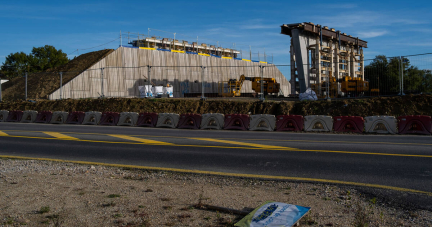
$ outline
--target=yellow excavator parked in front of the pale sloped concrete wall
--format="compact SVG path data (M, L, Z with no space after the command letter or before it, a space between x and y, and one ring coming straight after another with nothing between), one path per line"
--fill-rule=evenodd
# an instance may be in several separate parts
M275 78L262 78L261 80L261 77L246 77L245 75L241 75L239 80L230 79L229 81L220 82L218 86L219 96L241 96L241 88L245 80L252 81L252 90L256 93L261 93L261 83L263 83L264 96L272 93L277 94L280 91L280 83L277 83Z

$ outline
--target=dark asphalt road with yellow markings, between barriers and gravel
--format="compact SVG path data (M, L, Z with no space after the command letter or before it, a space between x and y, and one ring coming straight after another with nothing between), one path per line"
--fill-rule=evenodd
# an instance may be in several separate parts
M0 123L0 155L374 184L432 197L432 137Z

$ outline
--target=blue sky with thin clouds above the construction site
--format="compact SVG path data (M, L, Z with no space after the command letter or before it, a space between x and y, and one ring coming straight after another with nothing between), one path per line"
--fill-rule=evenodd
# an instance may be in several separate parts
M432 1L2 1L0 62L13 52L53 45L77 53L117 48L127 32L266 51L289 64L282 24L313 22L368 41L365 57L432 52ZM161 32L157 30L168 31ZM127 41L123 39L123 44ZM76 51L78 49L78 51ZM84 50L86 49L86 50ZM75 51L75 52L74 52ZM267 59L269 60L269 59Z

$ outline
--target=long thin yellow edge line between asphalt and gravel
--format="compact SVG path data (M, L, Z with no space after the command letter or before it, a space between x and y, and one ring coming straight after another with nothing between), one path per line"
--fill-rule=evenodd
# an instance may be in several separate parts
M62 159L34 158L34 157L9 156L9 155L0 155L0 158L33 159L33 160L40 160L40 161L67 162L67 163L76 163L76 164L83 164L83 165L101 165L101 166L110 166L110 167L119 167L119 168L145 169L145 170L155 170L155 171L170 171L170 172L180 172L180 173L194 173L194 174L206 174L206 175L217 175L217 176L227 176L227 177L260 178L260 179L266 179L266 180L309 181L309 182L319 182L319 183L331 183L331 184L342 184L342 185L362 186L362 187L371 187L371 188L381 188L381 189L388 189L388 190L394 190L394 191L400 191L400 192L419 193L419 194L424 194L427 196L432 196L432 192L409 189L409 188L400 188L400 187L393 187L393 186L379 185L379 184L368 184L368 183L340 181L340 180L328 180L328 179L319 179L319 178L286 177L286 176L243 174L243 173L225 173L225 172L216 172L216 171L189 170L189 169L138 166L138 165L122 165L122 164L111 164L111 163L102 163L102 162L68 161L68 160L62 160Z

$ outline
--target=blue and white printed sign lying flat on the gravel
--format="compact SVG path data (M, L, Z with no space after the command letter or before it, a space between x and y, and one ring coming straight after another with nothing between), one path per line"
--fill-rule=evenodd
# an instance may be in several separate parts
M293 226L309 210L310 207L267 201L246 215L246 217L237 222L234 226Z

